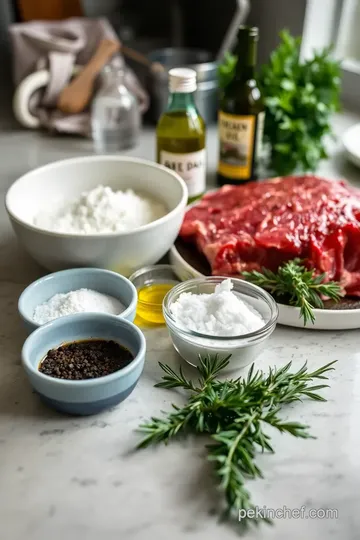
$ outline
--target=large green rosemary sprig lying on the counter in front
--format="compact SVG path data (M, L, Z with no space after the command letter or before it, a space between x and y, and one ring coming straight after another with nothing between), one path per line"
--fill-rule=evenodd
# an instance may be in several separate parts
M272 426L281 433L310 438L308 426L284 421L279 413L283 405L304 397L325 401L318 391L328 385L313 381L327 380L335 362L310 373L306 364L291 373L289 362L282 368L269 369L267 374L255 371L252 365L247 377L220 381L216 377L228 365L229 358L200 358L195 384L181 368L176 373L160 363L165 375L156 386L183 388L190 391L190 397L183 407L173 405L173 410L162 418L153 417L142 424L139 431L145 436L138 447L167 444L180 434L208 434L208 459L214 464L225 497L226 516L237 518L240 510L254 509L245 483L249 478L263 476L256 464L257 452L274 452L264 429Z

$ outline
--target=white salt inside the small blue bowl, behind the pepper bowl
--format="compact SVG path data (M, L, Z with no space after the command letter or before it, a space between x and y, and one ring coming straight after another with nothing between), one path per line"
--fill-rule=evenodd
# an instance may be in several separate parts
M33 319L38 324L45 324L73 313L98 312L119 315L124 309L121 302L112 296L90 289L79 289L55 294L35 308Z

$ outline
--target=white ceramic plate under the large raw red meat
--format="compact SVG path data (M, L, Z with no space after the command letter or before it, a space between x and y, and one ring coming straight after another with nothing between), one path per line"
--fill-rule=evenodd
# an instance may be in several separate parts
M184 272L193 277L204 277L204 274L196 270L188 263L174 245L170 250L170 262L174 265L176 273L181 277ZM285 326L304 328L303 320L300 319L300 309L278 304L278 323ZM360 309L314 309L315 323L308 324L305 328L310 330L354 330L360 328Z

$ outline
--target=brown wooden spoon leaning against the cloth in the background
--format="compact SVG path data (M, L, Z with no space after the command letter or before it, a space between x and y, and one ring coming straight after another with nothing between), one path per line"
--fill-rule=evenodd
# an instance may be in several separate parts
M57 108L66 114L82 112L91 100L97 75L119 49L118 41L102 40L84 69L61 91Z

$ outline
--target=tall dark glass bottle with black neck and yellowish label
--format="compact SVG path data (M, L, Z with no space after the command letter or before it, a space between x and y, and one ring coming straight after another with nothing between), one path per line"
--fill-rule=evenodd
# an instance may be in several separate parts
M238 59L235 74L220 98L219 185L241 184L257 178L265 120L255 80L258 36L255 27L239 28L234 51Z

